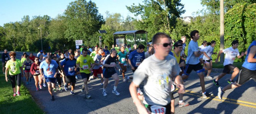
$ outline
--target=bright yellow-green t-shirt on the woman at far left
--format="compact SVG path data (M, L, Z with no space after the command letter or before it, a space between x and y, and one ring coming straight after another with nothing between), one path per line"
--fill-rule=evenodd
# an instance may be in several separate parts
M22 63L19 59L16 59L15 61L8 60L5 65L6 68L9 68L9 74L10 75L16 75L21 73L19 67L22 67Z

